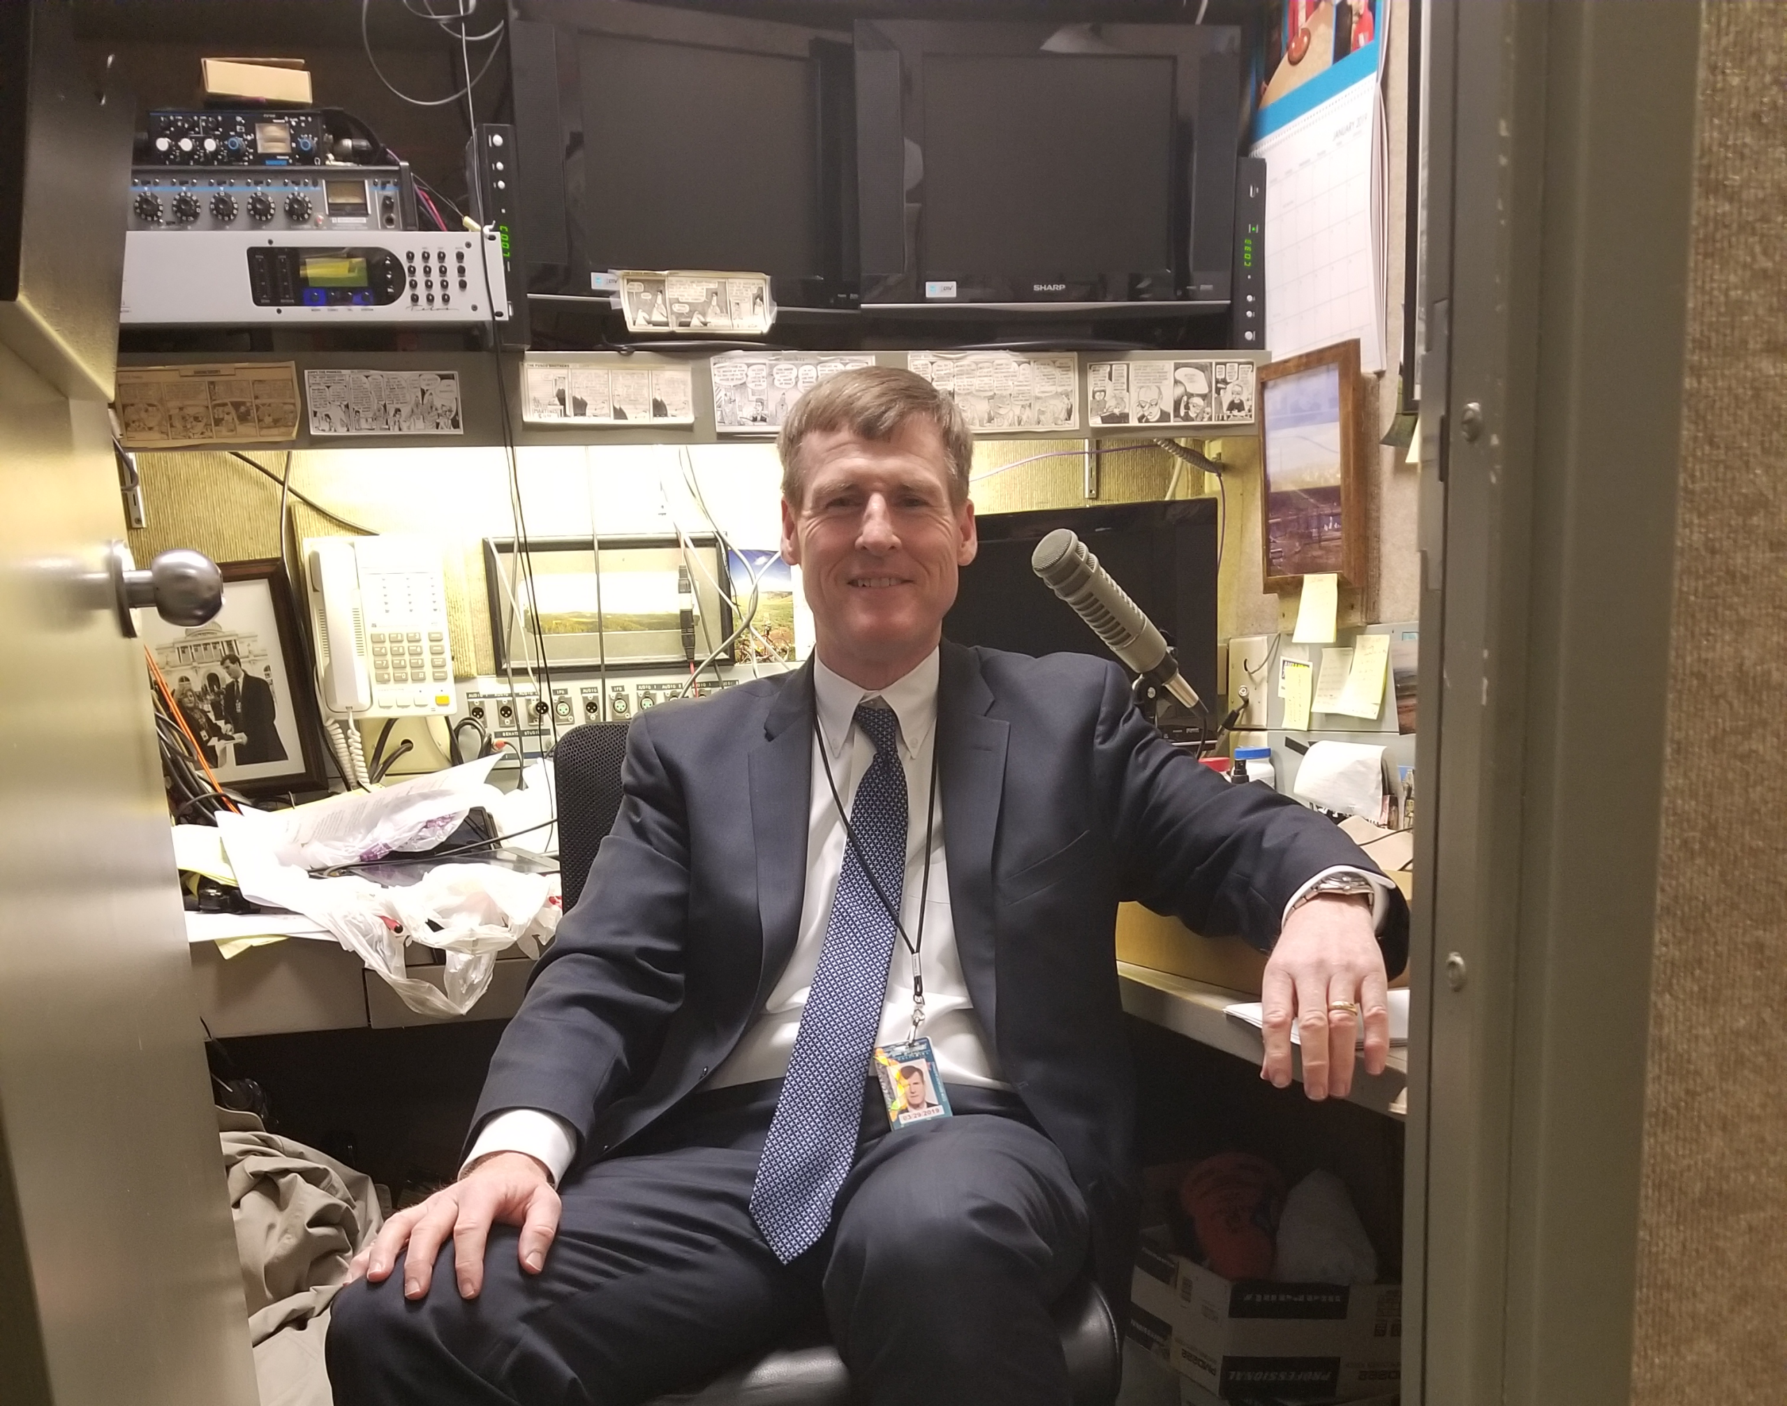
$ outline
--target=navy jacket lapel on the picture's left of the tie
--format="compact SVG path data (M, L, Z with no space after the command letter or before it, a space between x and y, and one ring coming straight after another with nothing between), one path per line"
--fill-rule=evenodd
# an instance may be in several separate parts
M770 986L793 952L806 897L806 831L813 784L813 665L788 675L751 749L751 829L758 849L758 920L763 927L758 993Z

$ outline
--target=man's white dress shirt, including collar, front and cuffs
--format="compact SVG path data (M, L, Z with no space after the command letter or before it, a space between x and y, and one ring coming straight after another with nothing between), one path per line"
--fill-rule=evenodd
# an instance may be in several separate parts
M945 1083L1010 1088L999 1077L999 1061L992 1042L986 1040L986 1033L974 1015L974 1000L969 995L969 984L961 975L961 959L956 952L956 925L949 906L949 861L944 847L942 784L938 784L935 802L931 850L929 856L924 852L924 802L931 788L931 756L936 743L936 650L931 650L924 663L913 668L911 674L879 691L852 684L849 679L826 668L815 656L813 691L818 700L818 725L826 740L826 752L822 757L820 741L813 738L813 777L808 791L806 829L806 893L801 900L801 925L788 965L763 1002L763 1009L745 1027L736 1049L701 1084L702 1090L747 1084L759 1079L781 1079L788 1072L793 1040L801 1029L801 1013L806 1009L813 972L818 968L818 954L826 945L826 927L831 922L831 902L838 888L838 874L843 868L847 836L843 820L838 815L838 802L849 813L856 797L856 783L861 781L863 772L868 770L868 763L874 759L874 743L854 724L856 706L874 697L879 697L899 716L899 754L906 768L906 884L901 893L901 927L906 929L908 938L919 943L919 959L924 963L926 1020L920 1033L931 1038L936 1068ZM836 802L831 797L831 786L826 783L826 763L831 765L831 777L838 786ZM929 858L931 884L927 897L922 900L926 913L924 936L920 940L919 909L920 891L924 890L926 858ZM1317 874L1292 895L1285 906L1285 915L1290 915L1297 899L1312 884L1331 874L1363 872L1330 868ZM1388 911L1387 890L1390 883L1376 874L1365 874L1363 877L1372 879L1376 886L1372 909L1381 927ZM881 1006L877 1043L899 1043L910 1033L911 954L895 936L886 997ZM552 1181L558 1183L577 1152L577 1133L554 1113L513 1108L484 1124L484 1129L477 1134L477 1142L472 1145L472 1154L465 1159L465 1167L491 1152L527 1152L543 1163L552 1174Z

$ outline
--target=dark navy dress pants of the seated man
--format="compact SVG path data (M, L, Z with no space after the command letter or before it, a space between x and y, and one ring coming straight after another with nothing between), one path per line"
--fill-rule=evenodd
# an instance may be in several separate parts
M829 1329L872 1406L1069 1406L1049 1304L1085 1260L1086 1209L1017 1095L951 1086L956 1117L888 1131L867 1086L831 1229L781 1265L749 1204L779 1088L695 1095L570 1174L538 1276L499 1226L470 1302L450 1240L422 1302L402 1261L350 1285L327 1338L336 1406L631 1406L802 1326Z

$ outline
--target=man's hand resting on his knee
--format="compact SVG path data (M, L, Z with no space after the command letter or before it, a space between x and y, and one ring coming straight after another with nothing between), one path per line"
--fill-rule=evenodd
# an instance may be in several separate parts
M520 1226L522 1270L540 1274L558 1222L559 1197L547 1168L525 1152L493 1152L420 1206L395 1211L372 1245L354 1256L347 1279L354 1283L365 1274L382 1283L407 1245L404 1297L422 1299L434 1279L434 1258L450 1234L459 1297L475 1299L484 1286L484 1243L491 1226Z

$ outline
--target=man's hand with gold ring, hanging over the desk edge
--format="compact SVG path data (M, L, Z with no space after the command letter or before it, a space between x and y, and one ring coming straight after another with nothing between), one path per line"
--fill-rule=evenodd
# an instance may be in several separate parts
M1390 1052L1388 979L1371 920L1371 902L1317 893L1297 904L1265 963L1260 993L1265 1063L1260 1077L1287 1088L1290 1029L1303 1040L1303 1092L1344 1099L1353 1088L1353 1050L1365 1027L1365 1072L1383 1074ZM1355 1006L1356 1011L1347 1009Z

